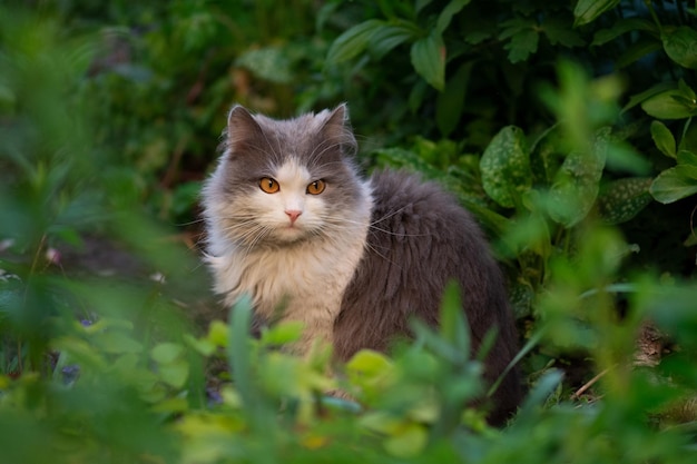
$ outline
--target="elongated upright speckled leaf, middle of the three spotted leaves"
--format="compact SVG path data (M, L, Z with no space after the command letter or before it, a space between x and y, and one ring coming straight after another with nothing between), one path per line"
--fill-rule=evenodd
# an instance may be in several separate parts
M608 155L610 129L602 128L588 150L570 152L557 172L550 190L550 216L565 227L588 215L598 196Z

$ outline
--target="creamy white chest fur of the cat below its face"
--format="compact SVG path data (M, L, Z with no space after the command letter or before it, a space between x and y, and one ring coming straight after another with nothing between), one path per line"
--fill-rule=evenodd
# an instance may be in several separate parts
M332 327L344 290L363 255L367 219L340 237L246 253L229 249L208 257L215 290L233 305L244 294L269 320L298 320L304 336L296 347L306 352L315 338L332 340Z

